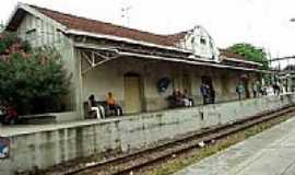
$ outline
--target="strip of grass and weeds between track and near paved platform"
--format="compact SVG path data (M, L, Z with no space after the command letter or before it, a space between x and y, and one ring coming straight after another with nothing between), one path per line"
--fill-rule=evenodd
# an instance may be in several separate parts
M187 167L191 164L196 164L204 158L208 158L212 154L215 154L224 149L227 149L231 145L234 145L238 142L241 142L257 133L262 132L266 129L269 129L282 121L288 119L291 115L282 116L279 118L271 119L267 122L259 124L251 128L248 128L244 131L239 131L232 136L228 136L226 139L217 140L214 144L209 144L202 149L192 150L184 155L175 155L176 159L169 160L165 163L161 163L160 165L150 167L144 172L140 172L141 175L170 175L176 173L177 171Z

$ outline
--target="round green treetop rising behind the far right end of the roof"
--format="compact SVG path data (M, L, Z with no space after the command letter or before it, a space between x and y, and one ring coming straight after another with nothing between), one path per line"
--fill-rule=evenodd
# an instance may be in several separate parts
M227 50L240 55L249 61L262 63L263 69L269 69L267 52L260 47L251 44L240 43L228 47Z

